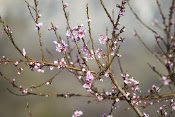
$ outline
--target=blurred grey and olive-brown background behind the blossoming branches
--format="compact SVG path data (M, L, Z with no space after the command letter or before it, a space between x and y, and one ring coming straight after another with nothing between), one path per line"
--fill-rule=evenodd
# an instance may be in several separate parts
M120 4L119 0L103 0L106 8L112 14L114 9L115 18L118 14L118 9L115 7L116 4ZM109 29L109 37L112 32L112 25L103 10L99 0L65 0L69 6L66 8L69 11L69 21L71 27L84 24L83 29L88 32L86 22L86 4L89 4L89 15L92 18L91 28L92 37L95 41L95 47L103 48L100 45L98 39L102 33L106 32L106 27ZM33 2L30 1L31 5ZM162 22L158 7L155 0L131 0L131 6L136 11L138 16L149 26L152 26L152 22L155 19L158 22ZM162 4L163 12L168 16L169 6L171 0L164 1L160 0ZM56 37L52 31L47 29L51 27L51 22L54 25L58 25L58 34L62 39L66 40L66 19L62 11L61 0L39 0L39 10L42 17L39 22L43 22L41 29L42 42L46 58L53 62L54 59L50 56L46 49L52 52L57 58L61 58L61 55L55 51L55 45L53 41ZM124 70L128 71L136 80L142 82L141 90L142 94L146 94L147 90L151 88L153 84L160 86L161 81L159 77L149 68L147 63L156 65L156 68L166 74L163 66L149 53L144 46L139 42L136 37L133 37L134 29L137 30L138 34L142 37L144 42L152 49L156 50L156 42L154 34L147 30L143 25L138 22L135 16L131 13L130 9L126 5L126 12L124 17L121 18L121 26L126 27L126 32L123 37L126 38L125 43L121 45L120 54L122 55L121 62ZM35 23L32 20L30 13L27 9L27 5L23 0L0 0L0 16L6 22L8 22L10 29L13 32L14 41L19 48L25 48L27 55L33 59L41 60L41 53L39 48L39 41L37 31L35 30ZM162 36L163 32L157 30ZM0 25L2 31L2 25ZM86 36L86 39L89 39ZM0 57L6 56L10 59L21 59L21 55L15 50L9 41L8 37L4 34L0 34ZM90 62L91 67L96 70L94 61ZM45 73L31 72L28 67L24 64L20 64L20 67L24 68L21 75L17 74L17 68L14 67L13 63L8 65L0 65L0 71L10 79L15 78L18 85L22 85L24 88L28 88L31 85L41 84L47 79L51 78L57 70L49 71L49 68L45 68ZM120 76L120 70L117 61L114 61L112 66L116 78L122 84ZM100 89L105 88L106 91L111 91L111 82L104 78L104 82L100 83L97 81L96 86ZM26 101L29 102L33 117L70 117L73 114L73 110L81 110L84 113L84 117L101 117L103 113L109 113L112 101L103 101L97 103L93 98L83 97L72 97L72 98L57 98L57 97L38 97L38 96L15 96L7 90L10 89L15 93L20 93L18 90L13 88L7 81L0 77L0 116L1 117L29 117L28 110L26 109ZM162 93L167 92L168 89L164 89ZM80 93L88 94L86 90L82 88L81 84L73 77L72 74L63 70L58 75L52 85L43 86L38 88L36 92L41 93ZM88 104L88 101L93 103ZM131 109L126 112L126 108L129 105L126 102L119 102L119 109L114 110L112 115L114 117L137 116L136 113ZM153 105L145 110L146 113L151 116L156 116L156 110L159 109L160 105ZM150 111L151 110L151 111Z

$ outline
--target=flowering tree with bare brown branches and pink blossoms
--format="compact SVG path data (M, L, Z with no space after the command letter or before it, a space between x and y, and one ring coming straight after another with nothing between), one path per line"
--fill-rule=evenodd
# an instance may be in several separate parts
M137 13L134 12L131 5L129 4L129 1L123 0L120 4L116 4L117 9L119 9L119 12L117 14L117 17L114 17L114 12L111 15L107 8L105 7L105 4L102 0L99 0L101 3L104 12L106 13L106 16L109 18L109 21L112 24L112 33L108 34L108 29L104 31L104 33L99 34L99 44L105 47L105 49L97 48L95 46L95 42L93 39L93 35L91 32L91 17L89 14L89 7L88 4L86 5L86 16L87 16L87 25L88 29L84 29L84 25L77 25L76 27L72 27L70 25L69 21L69 15L67 11L68 3L64 3L62 0L62 9L64 12L65 20L67 22L66 27L66 34L65 37L61 37L59 34L59 26L54 25L54 23L51 23L51 26L48 27L48 31L53 31L56 40L53 42L55 46L55 50L59 54L59 58L55 58L52 54L52 52L47 50L47 53L49 55L54 57L54 61L49 61L48 57L45 56L45 50L44 46L42 44L42 35L41 35L41 29L43 26L43 23L40 22L40 18L42 15L40 14L38 10L39 2L34 0L34 6L32 6L28 1L24 0L27 4L29 13L36 24L35 30L38 34L39 39L39 45L40 45L40 54L41 54L41 60L36 60L32 57L30 57L27 53L27 50L25 48L19 48L18 44L15 43L15 39L13 38L13 33L10 28L10 26L3 20L3 18L0 17L0 22L3 27L2 34L6 34L9 40L11 41L14 48L20 53L20 55L23 57L21 59L15 59L14 58L7 58L6 56L3 56L3 58L0 60L0 63L5 65L13 63L14 66L17 68L17 72L20 75L22 71L24 70L23 67L20 67L21 64L27 66L28 69L31 70L31 72L37 71L40 73L45 73L45 70L49 68L50 71L56 70L58 71L54 76L52 76L47 81L40 83L39 85L32 85L28 88L24 88L23 85L18 85L15 78L10 78L4 73L0 72L0 75L3 79L8 81L9 84L11 84L14 88L19 90L19 93L14 93L10 89L9 92L17 95L17 96L29 96L29 95L35 95L35 96L42 96L42 97L51 97L55 96L58 98L68 98L68 97L88 97L95 99L96 102L102 103L105 100L112 100L113 103L111 105L111 109L109 113L104 113L103 117L111 117L112 112L114 109L120 109L118 106L118 102L127 102L130 106L129 109L133 109L134 112L139 117L148 117L149 114L145 113L145 110L148 106L157 104L159 102L168 102L163 104L163 106L160 107L159 110L157 110L157 113L159 116L171 116L173 115L173 111L175 110L175 104L173 102L173 98L175 96L175 93L173 91L173 84L174 84L174 38L175 38L175 32L173 32L173 28L175 29L175 21L174 18L174 8L175 8L175 0L172 0L172 4L170 6L170 12L168 20L166 20L165 15L162 12L161 5L158 0L156 0L160 15L162 16L163 20L163 31L165 32L166 37L162 37L159 35L154 29L147 26L137 15ZM160 64L163 64L165 68L167 69L167 74L162 74L159 71L157 71L156 66L150 66L150 68L159 75L159 78L161 78L162 85L156 86L152 85L151 89L148 89L148 93L142 94L142 90L140 89L139 85L144 84L137 80L135 80L131 75L128 74L126 70L123 69L123 66L121 64L121 57L122 55L119 53L120 47L124 44L125 38L122 36L122 34L125 32L125 27L123 24L120 23L120 20L123 18L125 13L125 6L128 4L129 8L133 12L133 14L136 16L136 18L146 27L148 30L151 30L155 34L155 40L157 42L157 45L160 49L159 51L152 51L141 39L139 34L137 33L137 29L134 32L134 36L136 36L141 43L150 51L158 61L160 61ZM159 25L157 22L153 22L153 26L159 26L161 28L161 25ZM65 39L66 38L66 39ZM161 44L162 42L162 44ZM114 76L115 70L113 67L115 66L114 61L117 60L118 65L120 67L120 78L116 78ZM165 61L165 62L164 62ZM93 66L91 63L94 63ZM95 69L94 66L97 66L97 69ZM27 69L25 68L25 69ZM45 85L52 85L54 82L54 79L56 76L61 75L61 72L63 70L67 70L70 72L81 85L82 88L84 88L88 94L79 94L75 92L69 92L69 93L44 93L44 92L37 92L36 90L38 88L41 88ZM109 82L106 82L106 84L111 83L111 91L106 91L104 88L101 90L97 84L100 84L101 82L105 82L105 78L109 79ZM122 81L122 84L119 83L119 81ZM169 89L171 90L171 93L161 94L160 91L162 88L166 87L168 85ZM92 103L92 102L89 102ZM29 104L27 102L27 109L29 110L29 114L32 117L32 107L30 109ZM83 112L78 109L73 109L73 117L78 117L83 115ZM115 115L114 115L115 116Z

